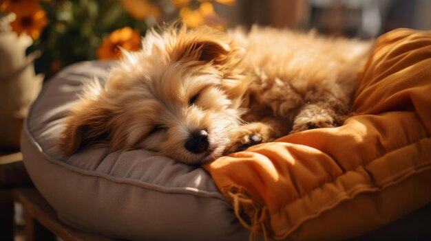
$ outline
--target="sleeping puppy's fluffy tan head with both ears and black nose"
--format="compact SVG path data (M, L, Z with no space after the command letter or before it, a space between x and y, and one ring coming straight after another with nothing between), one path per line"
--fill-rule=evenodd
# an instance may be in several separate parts
M145 148L188 164L220 157L240 125L240 51L209 27L151 30L124 52L105 86L87 86L59 139L71 154L100 139L111 150Z

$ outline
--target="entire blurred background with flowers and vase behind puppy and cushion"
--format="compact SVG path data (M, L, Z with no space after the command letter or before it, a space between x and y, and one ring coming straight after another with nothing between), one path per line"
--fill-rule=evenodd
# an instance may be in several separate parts
M149 27L182 20L226 30L253 24L375 38L431 29L428 0L0 0L0 148L16 147L43 81L67 65L120 58Z

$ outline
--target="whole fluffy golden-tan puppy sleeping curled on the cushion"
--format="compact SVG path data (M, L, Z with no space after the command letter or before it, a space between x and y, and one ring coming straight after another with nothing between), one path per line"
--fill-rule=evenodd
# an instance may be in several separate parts
M269 27L170 26L90 82L59 148L105 140L190 165L312 128L340 126L372 43Z

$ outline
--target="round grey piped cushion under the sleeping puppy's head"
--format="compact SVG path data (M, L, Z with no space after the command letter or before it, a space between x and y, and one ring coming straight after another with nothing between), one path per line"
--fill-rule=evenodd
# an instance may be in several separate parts
M44 84L21 137L25 167L59 218L86 231L129 240L247 240L249 231L211 176L147 150L56 148L62 119L83 82L113 62L81 62Z

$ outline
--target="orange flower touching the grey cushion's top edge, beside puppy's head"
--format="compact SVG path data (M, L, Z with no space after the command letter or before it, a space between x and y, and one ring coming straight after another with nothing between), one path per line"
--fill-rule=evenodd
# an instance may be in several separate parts
M140 49L140 34L131 27L123 27L115 30L107 38L104 38L101 46L97 49L99 59L118 59L121 57L119 47L136 51Z

